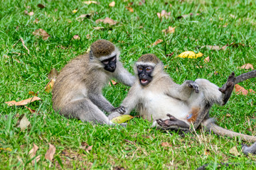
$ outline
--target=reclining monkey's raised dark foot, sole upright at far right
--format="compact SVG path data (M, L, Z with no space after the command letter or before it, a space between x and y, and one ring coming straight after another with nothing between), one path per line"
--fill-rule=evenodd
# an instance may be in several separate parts
M228 99L230 98L232 91L235 86L235 73L232 72L230 76L228 77L227 82L219 88L219 91L223 93L223 105L227 103Z

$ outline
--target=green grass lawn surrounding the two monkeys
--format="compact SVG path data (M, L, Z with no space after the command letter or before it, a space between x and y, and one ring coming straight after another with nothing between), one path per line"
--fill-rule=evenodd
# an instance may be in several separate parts
M210 169L215 169L220 162L241 163L223 169L256 169L256 166L246 164L254 162L255 156L242 154L235 157L230 154L229 150L234 146L241 150L239 139L210 135L201 130L196 132L197 135L181 137L176 132L170 134L151 129L151 123L141 118L130 120L127 128L91 125L63 118L53 111L51 94L44 91L50 69L60 70L100 38L119 47L124 67L130 72L142 54L154 53L167 66L166 72L179 84L186 79L205 78L221 86L230 72L237 75L247 72L238 69L242 64L251 63L256 67L255 1L151 0L142 6L139 6L139 1L134 1L131 6L134 13L125 8L132 1L116 1L114 7L109 6L110 2L90 5L64 0L0 2L0 147L11 148L11 151L0 150L0 169L61 169L61 164L63 169L196 169L203 164L212 164ZM46 8L38 8L38 4L44 4ZM78 12L73 13L74 9ZM171 16L160 20L156 13L163 9L171 11ZM33 11L34 15L25 15L25 10ZM92 13L91 18L82 22L76 20L85 13ZM194 15L176 19L188 13ZM118 23L114 26L95 23L105 17ZM38 23L33 23L36 18ZM93 27L96 26L104 29L95 30ZM176 27L175 33L165 35L161 32L168 26ZM50 38L36 38L33 31L38 28L46 30ZM72 40L75 34L80 36L80 40ZM90 35L89 39L87 35ZM19 38L25 41L29 55L21 42L13 47ZM148 47L158 39L164 41ZM201 48L203 45L223 46L231 42L245 46L228 47L225 51ZM175 57L186 50L200 51L203 57L196 60ZM166 57L171 52L174 55ZM203 61L207 56L210 57L208 63ZM255 79L240 85L256 91ZM122 84L107 86L104 95L114 106L119 106L128 89ZM4 103L29 98L28 91L39 91L42 101L28 104L38 114L31 114L23 106L9 107ZM224 128L256 135L255 102L255 94L242 96L233 93L226 106L213 106L210 115ZM226 116L227 113L231 116ZM31 122L23 132L15 128L21 114L26 114ZM48 142L56 147L53 162L44 158ZM93 145L89 153L80 149L82 142ZM162 142L169 142L172 147L162 147ZM41 160L34 166L28 156L33 143L39 147L36 155L41 155Z

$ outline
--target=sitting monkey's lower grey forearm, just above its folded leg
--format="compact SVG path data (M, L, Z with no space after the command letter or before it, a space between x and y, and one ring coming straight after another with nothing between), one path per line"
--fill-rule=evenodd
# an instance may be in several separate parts
M92 101L92 103L94 103L96 106L106 111L107 113L114 111L114 106L112 106L112 104L107 101L107 99L102 96L102 94L89 93L88 97L90 98L90 101Z

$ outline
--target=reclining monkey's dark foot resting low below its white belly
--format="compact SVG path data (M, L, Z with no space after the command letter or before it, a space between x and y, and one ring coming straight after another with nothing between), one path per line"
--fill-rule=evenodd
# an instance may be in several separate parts
M156 123L158 123L163 128L169 128L171 126L178 126L179 128L189 128L189 125L184 121L178 120L170 114L167 114L167 116L169 117L169 119L156 119Z

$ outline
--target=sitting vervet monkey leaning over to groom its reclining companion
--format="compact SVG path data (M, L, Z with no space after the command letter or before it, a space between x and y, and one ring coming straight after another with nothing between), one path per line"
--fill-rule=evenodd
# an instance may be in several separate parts
M53 108L68 118L112 125L102 112L117 109L102 96L102 88L115 78L132 86L135 77L119 62L120 52L112 42L97 40L89 54L71 60L61 70L53 86ZM118 109L122 111L122 108Z

